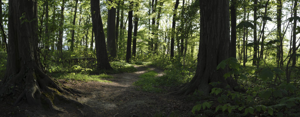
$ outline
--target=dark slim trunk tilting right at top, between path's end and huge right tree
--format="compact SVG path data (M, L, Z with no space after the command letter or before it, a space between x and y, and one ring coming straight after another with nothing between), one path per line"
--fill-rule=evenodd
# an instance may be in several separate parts
M176 11L178 8L179 0L176 0L174 11L173 11L173 22L172 22L172 34L171 34L171 50L170 50L170 59L174 57L174 37L175 37L175 26L176 26Z

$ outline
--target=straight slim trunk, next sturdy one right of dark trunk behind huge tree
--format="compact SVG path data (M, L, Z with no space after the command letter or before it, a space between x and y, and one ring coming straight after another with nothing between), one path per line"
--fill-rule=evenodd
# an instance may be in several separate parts
M257 27L257 0L254 0L254 11L253 11L253 25L254 25L254 29L253 29L253 43L254 43L254 47L253 47L253 65L256 65L256 61L257 61L257 51L258 51L258 43L257 43L257 32L256 32L256 27Z

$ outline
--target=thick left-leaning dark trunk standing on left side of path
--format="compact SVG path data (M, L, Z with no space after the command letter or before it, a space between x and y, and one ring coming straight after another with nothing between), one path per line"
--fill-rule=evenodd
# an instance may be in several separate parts
M113 69L110 66L107 49L105 44L105 34L103 29L103 23L100 12L100 1L91 0L91 17L92 25L95 34L95 50L97 56L97 68L98 69Z

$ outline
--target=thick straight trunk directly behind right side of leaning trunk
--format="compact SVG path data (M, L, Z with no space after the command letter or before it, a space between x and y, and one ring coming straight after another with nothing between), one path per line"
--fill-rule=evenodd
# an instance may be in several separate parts
M113 0L110 0L110 2L113 2ZM107 50L110 54L110 59L117 57L115 7L111 7L107 13Z

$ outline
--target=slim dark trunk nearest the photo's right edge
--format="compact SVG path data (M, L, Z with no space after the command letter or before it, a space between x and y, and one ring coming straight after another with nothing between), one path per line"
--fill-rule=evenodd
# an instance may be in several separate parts
M295 0L294 3L294 17L297 16L297 4L298 4L298 0ZM294 53L294 56L292 57L292 67L295 67L296 65L296 26L297 26L297 20L294 19L294 23L293 23L293 45L292 45L292 53Z

